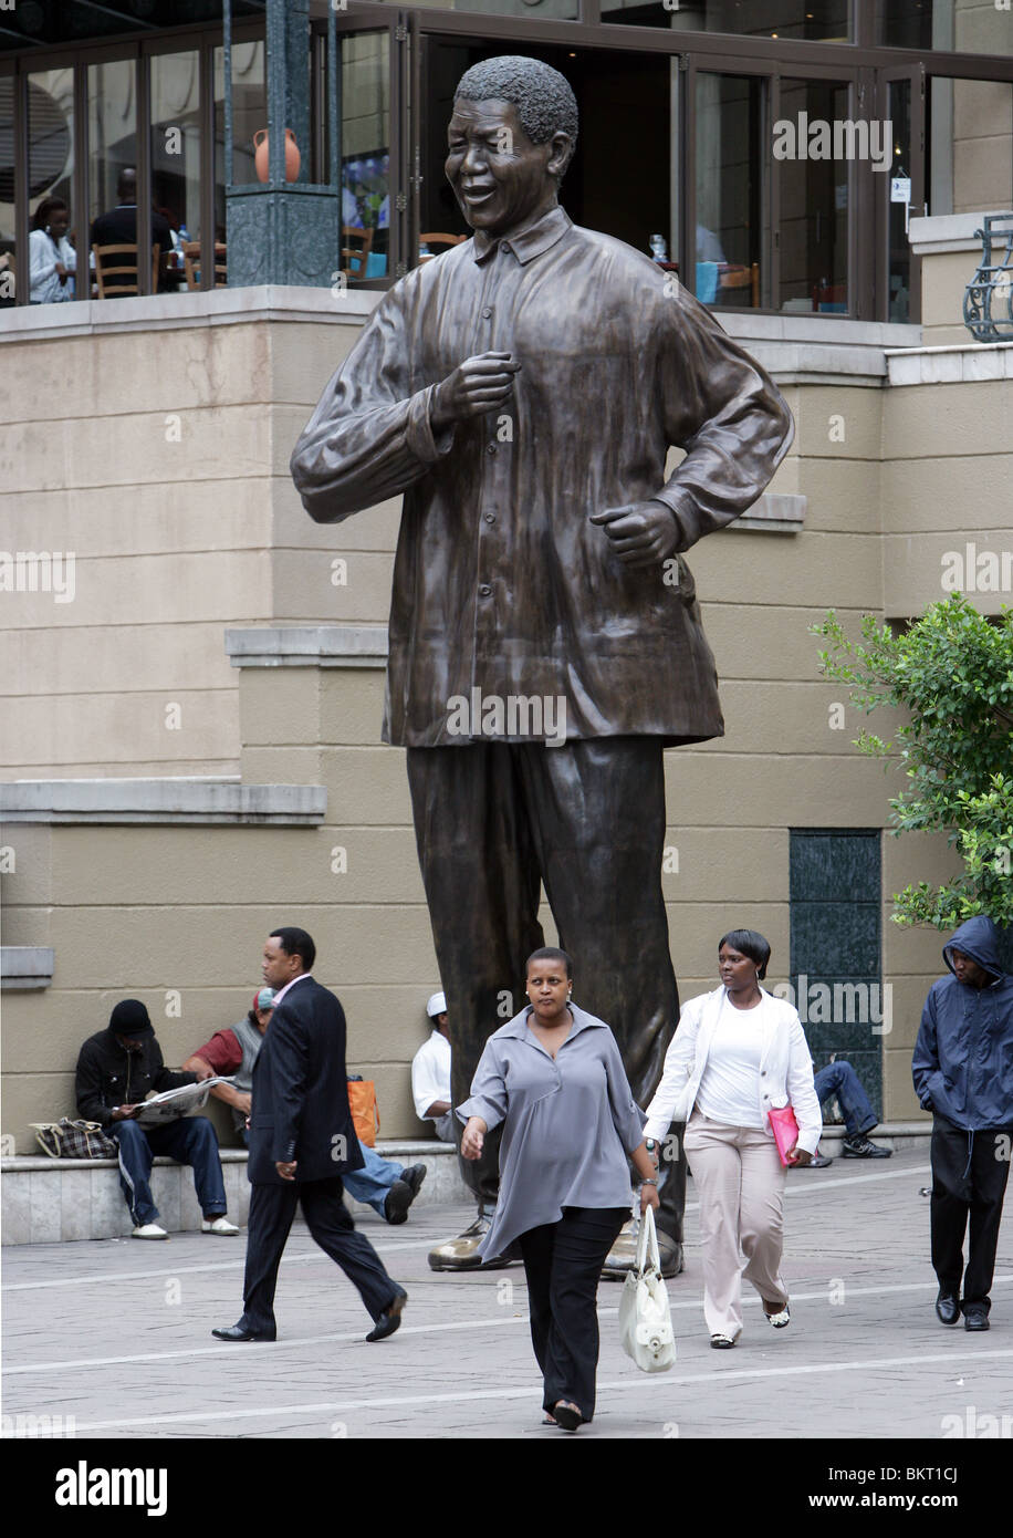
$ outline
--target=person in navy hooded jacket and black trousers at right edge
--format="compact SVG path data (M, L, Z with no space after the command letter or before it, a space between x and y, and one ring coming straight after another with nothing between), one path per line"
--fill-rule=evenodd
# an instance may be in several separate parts
M1013 1143L1013 977L1002 970L998 940L995 923L981 917L968 918L944 946L952 975L928 990L912 1060L918 1098L933 1114L936 1313L956 1324L962 1310L968 1330L988 1329Z

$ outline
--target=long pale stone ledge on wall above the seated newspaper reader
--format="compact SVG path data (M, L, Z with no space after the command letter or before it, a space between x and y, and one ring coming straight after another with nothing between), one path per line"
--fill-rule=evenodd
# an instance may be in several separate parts
M315 827L327 811L320 784L238 780L11 780L0 784L5 823L211 823Z

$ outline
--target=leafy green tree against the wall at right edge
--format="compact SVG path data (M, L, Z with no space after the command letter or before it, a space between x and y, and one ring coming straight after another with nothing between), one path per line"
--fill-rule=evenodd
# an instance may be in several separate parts
M962 860L942 886L895 892L893 921L948 930L990 914L1013 924L1013 609L990 623L952 594L899 634L867 614L852 641L833 611L812 634L830 643L821 672L853 704L907 712L895 743L864 729L855 740L873 758L896 754L907 777L890 800L893 832L944 831Z

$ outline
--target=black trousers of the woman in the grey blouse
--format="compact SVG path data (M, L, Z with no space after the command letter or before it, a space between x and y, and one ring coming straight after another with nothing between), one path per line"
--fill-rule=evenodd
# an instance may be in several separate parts
M598 1278L629 1215L629 1207L564 1207L560 1223L520 1237L546 1410L570 1400L586 1421L595 1413Z

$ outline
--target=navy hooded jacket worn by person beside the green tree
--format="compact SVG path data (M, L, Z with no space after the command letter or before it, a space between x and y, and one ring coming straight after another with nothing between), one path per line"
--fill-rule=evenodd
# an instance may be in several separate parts
M990 918L968 918L944 946L962 950L991 974L984 987L933 983L922 1009L912 1075L925 1110L965 1132L1013 1127L1013 977L1002 972L998 930Z

